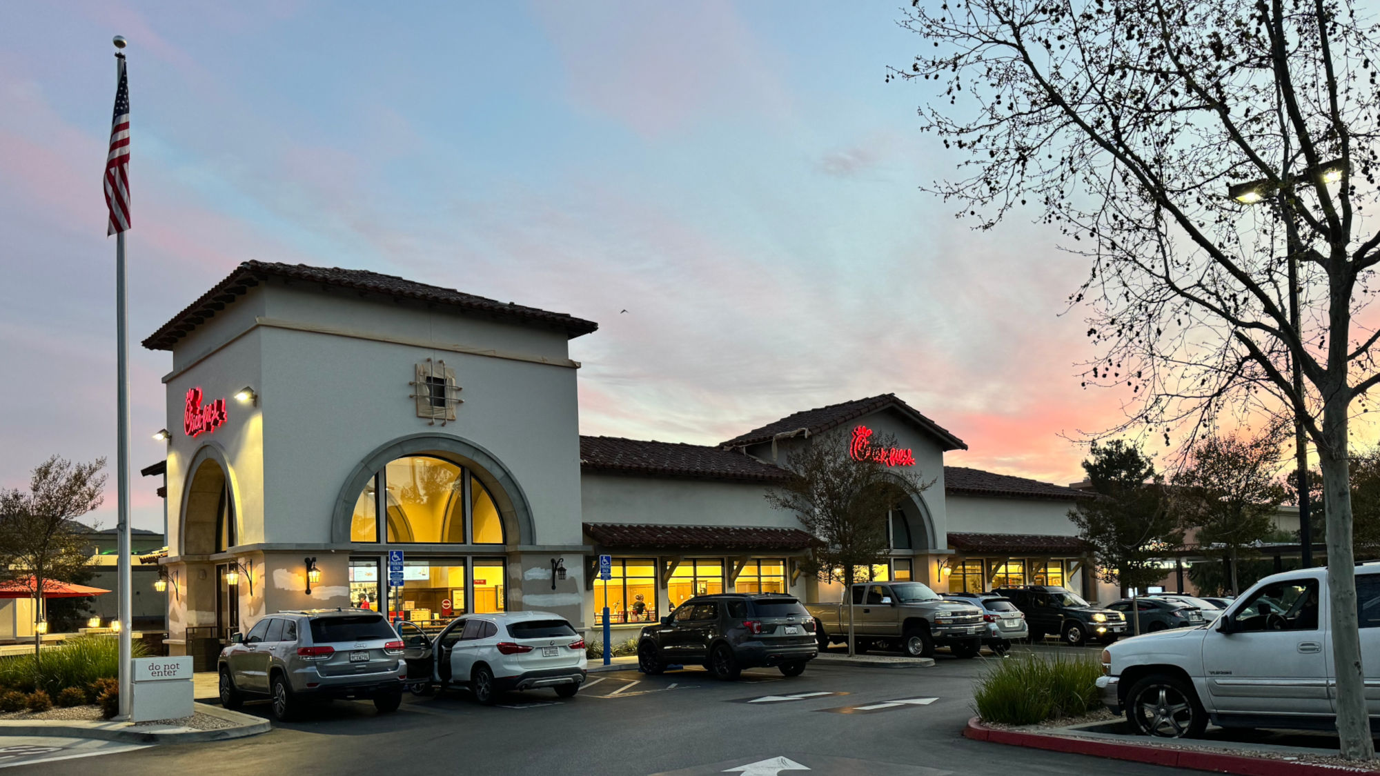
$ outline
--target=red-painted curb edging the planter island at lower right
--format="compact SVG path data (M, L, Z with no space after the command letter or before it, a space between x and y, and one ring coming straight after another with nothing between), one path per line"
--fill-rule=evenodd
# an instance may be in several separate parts
M1147 762L1167 768L1190 770L1210 770L1213 773L1236 773L1239 776L1321 776L1323 773L1380 773L1372 768L1350 768L1346 765L1315 765L1292 762L1265 757L1246 757L1203 750L1179 750L1155 744L1130 744L1119 741L1094 741L1054 733L1031 733L1027 730L998 730L983 725L977 717L967 721L963 737L974 741L989 741L1047 751L1086 754L1108 759Z

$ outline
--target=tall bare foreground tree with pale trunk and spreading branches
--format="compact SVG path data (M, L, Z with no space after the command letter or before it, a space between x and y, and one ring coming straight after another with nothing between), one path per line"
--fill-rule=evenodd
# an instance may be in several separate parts
M1380 262L1376 28L1348 0L915 1L923 54L890 77L936 88L922 128L962 173L933 191L981 228L1029 206L1089 257L1085 385L1166 443L1234 411L1317 446L1341 751L1373 757L1347 427L1380 381L1355 320Z

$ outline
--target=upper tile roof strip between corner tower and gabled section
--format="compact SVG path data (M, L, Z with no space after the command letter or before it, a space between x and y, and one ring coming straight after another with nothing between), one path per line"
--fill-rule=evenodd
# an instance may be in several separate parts
M782 481L789 472L742 453L683 445L643 442L618 436L581 436L580 468L705 479Z

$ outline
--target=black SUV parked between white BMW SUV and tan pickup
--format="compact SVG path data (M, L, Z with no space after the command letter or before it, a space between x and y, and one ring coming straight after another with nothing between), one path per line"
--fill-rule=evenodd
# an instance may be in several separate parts
M638 639L644 674L698 663L724 681L756 666L798 677L818 653L814 617L795 596L778 592L697 595L642 628Z

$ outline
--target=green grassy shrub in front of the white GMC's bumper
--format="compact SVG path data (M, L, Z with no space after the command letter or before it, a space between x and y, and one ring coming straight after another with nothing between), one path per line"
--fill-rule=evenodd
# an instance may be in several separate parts
M1098 708L1094 657L1010 657L992 664L973 686L973 707L984 722L1034 725L1081 717Z

